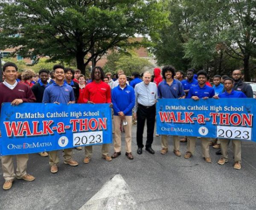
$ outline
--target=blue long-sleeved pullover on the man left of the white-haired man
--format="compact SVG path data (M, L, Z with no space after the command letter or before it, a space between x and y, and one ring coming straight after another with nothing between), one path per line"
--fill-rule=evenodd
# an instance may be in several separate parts
M132 109L135 105L135 92L133 87L126 85L124 89L116 86L111 91L111 101L113 104L114 115L118 112L124 112L125 115L131 116Z

